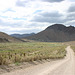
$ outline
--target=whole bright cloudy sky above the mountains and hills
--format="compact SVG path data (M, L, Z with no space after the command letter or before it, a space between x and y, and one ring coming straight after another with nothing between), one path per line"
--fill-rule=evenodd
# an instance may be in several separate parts
M0 31L38 33L52 24L75 26L75 0L0 0Z

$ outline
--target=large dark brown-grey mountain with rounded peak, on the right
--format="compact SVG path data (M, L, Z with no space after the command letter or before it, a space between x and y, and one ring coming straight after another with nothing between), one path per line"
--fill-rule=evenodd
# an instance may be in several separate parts
M33 36L26 37L26 39L44 42L75 41L75 27L66 27L63 24L54 24Z

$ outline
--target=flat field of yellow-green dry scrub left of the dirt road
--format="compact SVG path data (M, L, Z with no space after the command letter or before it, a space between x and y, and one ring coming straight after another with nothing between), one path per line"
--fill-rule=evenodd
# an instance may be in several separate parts
M65 47L46 42L0 43L0 65L63 58L66 55Z

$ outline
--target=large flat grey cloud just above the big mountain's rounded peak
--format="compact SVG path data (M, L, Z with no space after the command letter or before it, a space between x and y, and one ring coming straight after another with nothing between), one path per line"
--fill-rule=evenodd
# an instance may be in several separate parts
M42 12L35 15L31 21L34 22L49 22L49 23L62 23L64 19L63 15L59 12Z

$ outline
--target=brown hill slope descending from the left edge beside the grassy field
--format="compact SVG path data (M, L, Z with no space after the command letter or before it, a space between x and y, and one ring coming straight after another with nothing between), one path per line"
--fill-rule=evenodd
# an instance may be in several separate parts
M11 37L6 33L0 32L0 42L23 42L23 40Z

